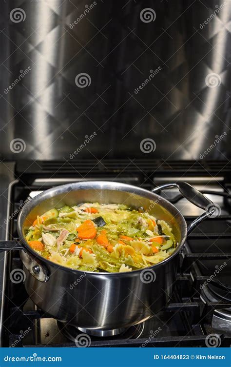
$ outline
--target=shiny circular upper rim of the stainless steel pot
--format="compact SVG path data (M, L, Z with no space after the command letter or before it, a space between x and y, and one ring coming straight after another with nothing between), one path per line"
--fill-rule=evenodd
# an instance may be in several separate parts
M173 218L178 215L182 221L182 226L183 226L183 230L180 231L181 233L181 240L179 242L179 244L177 245L175 251L173 252L172 255L170 255L168 258L162 260L161 262L154 264L154 265L150 265L147 267L144 267L142 269L137 269L137 270L132 270L130 272L115 272L115 273L110 273L110 272L95 272L95 271L83 271L83 270L78 270L78 269L73 269L71 267L67 267L67 266L63 266L63 265L58 265L57 263L54 263L48 259L45 259L43 256L39 255L38 252L36 252L35 250L33 250L26 242L26 240L23 237L22 234L22 227L23 227L23 223L25 218L28 216L28 214L30 213L30 211L39 203L43 202L46 199L50 199L53 196L57 196L61 193L65 193L65 192L69 192L69 191L74 191L74 190L87 190L87 189L106 189L106 190L115 190L115 191L125 191L125 192L130 192L130 193L135 193L137 195L143 196L144 198L147 198L150 200L153 199L158 199L159 203L157 205L160 205L162 207L164 207L165 209L167 209L173 216ZM53 193L56 192L55 195L53 195ZM143 195L142 195L143 194ZM164 205L162 205L164 204ZM173 214L173 212L175 212ZM24 217L24 218L23 218ZM177 221L178 225L179 222ZM183 215L181 214L181 212L176 208L175 205L173 205L172 203L170 203L168 200L162 198L161 196L153 193L152 191L149 191L147 189L135 186L135 185L131 185L131 184L127 184L127 183L119 183L119 182L115 182L115 181L81 181L81 182L77 182L77 183L66 183L63 185L58 185L55 187L52 187L50 189L44 190L42 193L40 193L39 195L35 196L33 199L31 199L27 204L25 204L23 206L23 208L21 209L20 213L19 213L19 217L17 220L17 230L19 233L19 242L22 243L24 249L33 257L34 260L38 261L38 263L45 263L48 265L52 265L54 267L60 268L64 271L68 271L74 274L92 274L92 275L101 275L101 276L133 276L133 274L137 274L137 273L141 273L142 271L146 270L146 269L157 269L157 267L164 265L166 263L168 263L169 261L171 261L173 259L173 257L175 257L176 255L179 254L179 252L182 249L182 246L184 245L186 238L187 238L187 223L183 217Z

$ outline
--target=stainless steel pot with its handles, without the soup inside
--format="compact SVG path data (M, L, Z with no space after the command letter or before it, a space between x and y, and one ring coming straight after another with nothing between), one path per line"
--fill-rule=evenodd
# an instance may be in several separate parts
M193 204L205 209L187 228L178 209L158 196L161 189L178 187ZM35 252L25 241L25 230L52 207L84 202L125 203L143 206L173 228L178 246L159 264L129 273L96 273L73 270L55 264ZM152 317L165 306L173 292L176 267L187 232L208 217L212 202L188 183L163 184L152 192L116 182L81 182L54 187L36 196L18 218L20 242L2 241L0 250L19 249L25 271L25 288L36 305L61 322L97 335L116 334L122 328Z

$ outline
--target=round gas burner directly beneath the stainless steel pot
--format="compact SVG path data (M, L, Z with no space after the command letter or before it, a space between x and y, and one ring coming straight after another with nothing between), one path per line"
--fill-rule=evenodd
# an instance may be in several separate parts
M138 325L130 326L129 328L119 328L114 330L93 330L76 327L68 323L57 321L59 331L72 342L75 342L76 337L80 333L85 333L91 336L92 340L106 340L107 338L116 337L116 339L138 339L144 329L144 322Z

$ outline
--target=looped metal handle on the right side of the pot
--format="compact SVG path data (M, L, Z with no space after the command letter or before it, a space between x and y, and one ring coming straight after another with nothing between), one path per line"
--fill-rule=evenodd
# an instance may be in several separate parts
M189 234L200 222L208 217L211 217L211 215L216 210L215 205L205 195L203 195L200 191L198 191L195 187L187 182L163 183L162 185L155 187L151 191L157 194L161 190L172 187L177 187L182 196L186 198L190 203L205 210L205 213L197 217L192 223L189 224L187 230Z

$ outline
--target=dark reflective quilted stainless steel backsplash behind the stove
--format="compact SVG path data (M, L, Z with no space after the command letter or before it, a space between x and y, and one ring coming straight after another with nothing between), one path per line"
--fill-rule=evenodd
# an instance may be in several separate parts
M2 158L231 156L231 0L1 0L0 48Z

